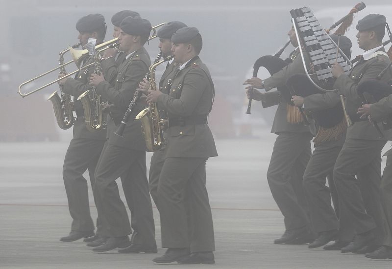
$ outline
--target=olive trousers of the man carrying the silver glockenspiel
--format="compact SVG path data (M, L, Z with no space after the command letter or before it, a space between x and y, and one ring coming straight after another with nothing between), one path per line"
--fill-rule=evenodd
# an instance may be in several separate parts
M380 183L381 150L385 143L346 139L333 172L341 216L350 218L356 234L375 229L378 241L384 238Z

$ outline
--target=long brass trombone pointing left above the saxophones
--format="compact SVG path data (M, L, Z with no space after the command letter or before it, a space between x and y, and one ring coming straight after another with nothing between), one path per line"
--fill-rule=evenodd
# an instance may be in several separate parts
M148 38L147 41L150 41L150 40L156 38L156 37L157 37L157 33L156 33L157 28L159 28L160 26L165 25L165 24L167 24L167 22L163 22L163 23L161 23L161 24L158 24L158 25L152 27L152 28L151 28L151 30L152 30L152 35ZM109 41L106 41L106 42L104 42L104 43L102 43L102 44L97 45L97 46L96 46L96 49L97 49L98 54L101 53L101 52L103 52L103 51L106 50L106 49L109 49L109 48L117 48L117 47L119 46L119 45L117 44L118 39L119 39L119 38L114 38L114 39L112 39L112 40L109 40ZM65 52L68 52L68 51L70 51L73 60L71 60L71 61L69 61L69 62L67 62L67 63L65 63L65 64L63 64L63 65L60 65L60 66L58 66L58 67L56 67L56 68L53 68L53 69L51 69L51 70L49 70L49 71L47 71L47 72L45 72L45 73L43 73L43 74L41 74L41 75L38 75L38 76L36 76L36 77L30 79L30 80L25 81L24 83L22 83L21 85L19 85L19 88L18 88L18 93L19 93L19 95L21 95L21 96L24 98L24 97L26 97L26 96L28 96L28 95L30 95L30 94L33 94L33 93L36 92L36 91L42 90L42 89L44 89L44 88L46 88L46 87L48 87L48 86L50 86L50 85L52 85L52 84L54 84L54 83L56 83L56 82L59 82L60 80L62 80L62 79L64 79L64 78L67 78L67 77L69 77L69 76L72 76L73 74L75 74L75 73L78 72L79 70L82 70L82 69L85 69L85 68L88 68L88 67L94 65L94 63L91 63L91 64L89 64L89 65L87 65L87 66L82 67L82 68L80 67L80 66L82 65L82 63L83 63L83 59L84 59L85 57L89 56L89 52L88 52L87 49L76 50L76 49L74 49L73 47L69 47L68 49L66 49L66 50L64 51L64 53L65 53ZM71 73L69 73L69 74L67 74L67 75L65 75L65 76L63 76L63 77L61 77L61 78L58 78L58 79L56 79L56 80L53 80L52 82L49 82L48 84L45 84L44 86L41 86L41 87L39 87L39 88L37 88L37 89L35 89L35 90L32 90L32 91L29 91L29 92L22 93L22 87L23 87L23 86L25 86L25 85L27 85L27 84L29 84L29 83L31 83L31 82L33 82L33 81L35 81L35 80L37 80L37 79L43 77L43 76L46 76L47 74L49 74L49 73L51 73L51 72L53 72L53 71L55 71L55 70L57 70L57 69L63 68L63 67L65 67L65 66L67 66L67 65L69 65L69 64L71 64L71 63L75 63L75 65L76 65L76 67L77 67L78 69L76 69L75 71L73 71L73 72L71 72Z

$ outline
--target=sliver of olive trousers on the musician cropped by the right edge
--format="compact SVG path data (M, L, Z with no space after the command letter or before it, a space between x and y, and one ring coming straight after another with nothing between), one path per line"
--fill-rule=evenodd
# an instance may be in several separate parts
M381 205L385 227L385 238L382 245L392 247L392 156L387 157L387 165L381 179Z

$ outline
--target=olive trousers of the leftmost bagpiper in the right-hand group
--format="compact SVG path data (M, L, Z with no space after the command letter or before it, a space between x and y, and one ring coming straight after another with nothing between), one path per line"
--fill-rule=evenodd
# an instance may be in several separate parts
M282 132L273 146L267 179L286 230L309 226L302 179L311 156L311 138L310 133Z

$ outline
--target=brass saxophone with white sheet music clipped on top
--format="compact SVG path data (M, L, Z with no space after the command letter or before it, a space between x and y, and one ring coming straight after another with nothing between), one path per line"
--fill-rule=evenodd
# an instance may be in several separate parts
M86 48L88 49L89 54L93 57L94 74L100 75L101 67L95 50L95 42L87 43ZM98 133L106 126L106 122L102 114L101 97L97 94L95 86L91 87L92 97L89 92L90 90L86 90L77 98L77 100L82 102L87 130L92 133Z

